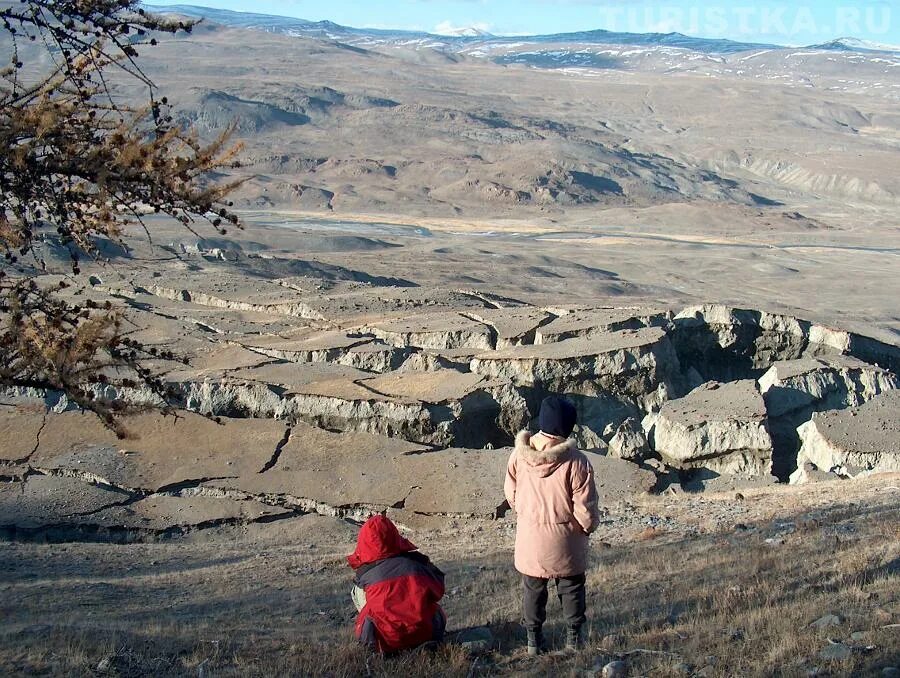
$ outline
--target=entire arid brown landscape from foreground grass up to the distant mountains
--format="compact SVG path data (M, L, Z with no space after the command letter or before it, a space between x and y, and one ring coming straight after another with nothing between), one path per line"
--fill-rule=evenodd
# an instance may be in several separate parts
M467 45L142 54L204 135L238 121L243 228L150 216L75 278L43 243L179 416L2 394L0 672L897 675L900 55ZM529 660L502 479L548 393L605 515L585 649ZM352 642L381 511L447 573L434 654Z

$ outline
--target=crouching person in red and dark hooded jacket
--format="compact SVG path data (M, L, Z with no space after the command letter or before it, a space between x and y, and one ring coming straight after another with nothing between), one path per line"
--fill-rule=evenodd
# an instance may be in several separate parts
M389 654L443 640L447 620L438 601L444 573L390 519L367 520L347 561L356 574L351 597L361 643Z

